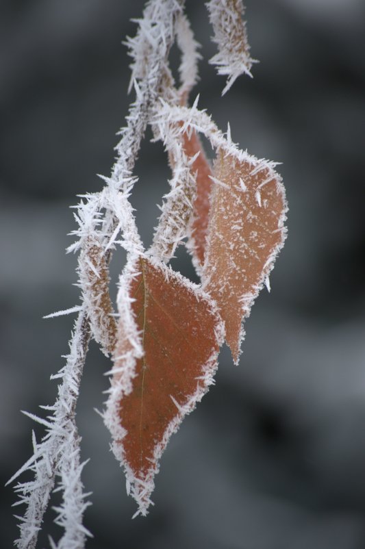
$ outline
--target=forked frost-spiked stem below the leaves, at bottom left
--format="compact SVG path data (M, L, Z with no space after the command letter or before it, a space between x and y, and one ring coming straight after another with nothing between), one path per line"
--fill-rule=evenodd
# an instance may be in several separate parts
M47 434L39 444L33 437L34 455L9 481L9 483L14 481L26 470L34 473L33 481L18 483L15 487L20 498L16 505L21 503L27 505L25 515L20 518L21 534L16 540L18 549L36 547L38 532L56 477L60 477L60 489L64 491L63 502L58 509L57 522L64 527L65 539L67 539L67 544L61 540L59 547L62 549L84 547L86 529L82 527L82 517L88 503L85 501L86 494L83 493L80 479L83 465L80 463L75 409L89 339L88 318L85 310L82 309L75 323L66 365L53 376L53 379L62 379L62 383L58 387L58 398L55 404L45 407L52 412L51 415L47 419L42 419L27 414L45 425Z

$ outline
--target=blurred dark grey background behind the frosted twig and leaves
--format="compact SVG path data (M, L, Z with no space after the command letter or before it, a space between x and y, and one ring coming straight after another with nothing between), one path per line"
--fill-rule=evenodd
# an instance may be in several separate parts
M1 485L42 429L20 413L53 403L77 303L72 210L101 188L127 105L141 0L1 0ZM240 366L223 350L216 386L173 436L147 518L131 520L110 437L94 408L110 363L92 344L77 420L93 492L88 548L364 549L365 5L247 1L254 79L221 98L203 2L188 0L202 44L201 107L258 157L283 162L289 236L247 320ZM174 52L172 55L175 55ZM146 244L168 188L160 144L144 142L133 198ZM184 251L176 268L194 276ZM112 262L114 281L123 257ZM112 295L115 296L115 285ZM17 535L1 488L1 547ZM46 532L58 528L47 513ZM42 535L40 547L48 546Z

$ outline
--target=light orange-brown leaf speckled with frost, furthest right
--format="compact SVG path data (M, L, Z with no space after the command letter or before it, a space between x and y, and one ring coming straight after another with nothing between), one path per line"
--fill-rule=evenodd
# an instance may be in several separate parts
M243 155L243 156L242 156ZM273 268L284 244L286 199L268 162L245 153L218 153L203 288L216 301L235 362L244 337L242 317Z

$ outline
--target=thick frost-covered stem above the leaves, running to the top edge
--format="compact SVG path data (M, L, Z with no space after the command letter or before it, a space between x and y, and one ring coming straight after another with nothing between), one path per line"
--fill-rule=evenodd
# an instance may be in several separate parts
M142 248L131 206L127 201L136 181L131 177L131 171L158 99L160 95L166 94L164 88L169 75L168 53L175 39L177 21L180 29L181 25L184 25L184 20L181 21L183 5L184 0L150 0L142 18L136 20L139 24L136 37L127 40L129 55L134 60L131 65L131 81L134 82L136 100L129 109L127 125L119 132L121 140L115 148L116 162L110 177L103 177L107 184L92 217L92 222L98 221L99 212L105 207L101 235L104 239L103 244L108 248L116 241L119 231L124 231L123 245L128 252L137 253ZM186 26L187 23L185 23ZM185 66L188 67L187 61ZM196 78L194 70L185 68L184 74L190 75L190 83ZM128 196L125 196L126 190ZM82 205L79 212L82 216ZM127 222L125 222L126 216ZM80 235L79 231L77 234ZM86 246L90 246L90 242Z

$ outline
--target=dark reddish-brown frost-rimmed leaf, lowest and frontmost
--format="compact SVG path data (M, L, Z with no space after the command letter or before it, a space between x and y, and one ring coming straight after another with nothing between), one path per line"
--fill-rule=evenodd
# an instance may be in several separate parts
M145 515L168 439L213 383L223 324L210 298L164 264L140 257L134 271L129 298L143 356L136 360L131 392L118 396L115 385L110 398L118 405L111 409L118 417L108 422L117 421L124 435L114 438L114 453L123 459L136 514ZM126 333L122 326L117 353L130 348ZM119 372L121 362L116 366Z

